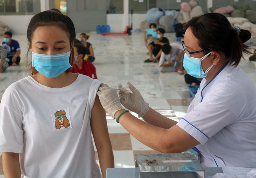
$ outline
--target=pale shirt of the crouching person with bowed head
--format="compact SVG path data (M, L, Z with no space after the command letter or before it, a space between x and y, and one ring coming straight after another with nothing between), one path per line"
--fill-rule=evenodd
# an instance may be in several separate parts
M178 43L171 43L170 45L172 47L172 52L167 55L163 52L161 53L161 57L159 60L159 66L161 66L161 64L168 63L170 60L174 61L175 57L183 51L182 45L179 45ZM173 65L174 65L174 63L173 63Z

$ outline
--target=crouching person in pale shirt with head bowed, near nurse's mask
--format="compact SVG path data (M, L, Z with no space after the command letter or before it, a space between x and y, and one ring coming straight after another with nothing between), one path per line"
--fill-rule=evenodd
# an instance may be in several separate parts
M178 43L165 44L159 61L161 72L178 72L183 74L183 47Z

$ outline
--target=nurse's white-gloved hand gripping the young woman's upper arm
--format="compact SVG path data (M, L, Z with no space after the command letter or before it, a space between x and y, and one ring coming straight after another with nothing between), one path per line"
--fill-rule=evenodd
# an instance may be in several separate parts
M108 87L108 85L104 84L99 88L97 92L102 107L106 110L106 112L112 116L113 119L115 113L123 109L120 104L119 97L116 89Z

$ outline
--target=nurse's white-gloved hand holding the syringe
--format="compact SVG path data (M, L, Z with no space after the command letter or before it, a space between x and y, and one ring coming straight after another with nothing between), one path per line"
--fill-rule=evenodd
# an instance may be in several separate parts
M149 103L144 101L137 88L135 88L130 82L127 82L127 84L133 93L130 93L126 88L120 89L118 93L120 97L119 100L124 107L137 113L138 117L143 117L143 115L145 115L149 110ZM121 87L122 84L119 83L118 88Z

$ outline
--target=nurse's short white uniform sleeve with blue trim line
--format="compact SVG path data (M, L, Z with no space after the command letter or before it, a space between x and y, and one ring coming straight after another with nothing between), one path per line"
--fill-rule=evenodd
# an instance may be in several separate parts
M235 87L217 87L209 91L177 125L204 144L225 126L238 120L245 111L245 98L243 92Z

